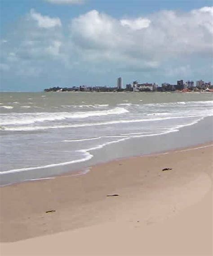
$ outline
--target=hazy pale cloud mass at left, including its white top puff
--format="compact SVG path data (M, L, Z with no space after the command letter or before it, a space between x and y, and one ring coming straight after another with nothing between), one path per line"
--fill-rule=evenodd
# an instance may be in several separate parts
M2 44L3 71L8 64L12 76L36 78L47 75L51 66L63 66L65 56L61 48L65 40L59 18L49 18L31 9L9 35L4 39L8 42Z

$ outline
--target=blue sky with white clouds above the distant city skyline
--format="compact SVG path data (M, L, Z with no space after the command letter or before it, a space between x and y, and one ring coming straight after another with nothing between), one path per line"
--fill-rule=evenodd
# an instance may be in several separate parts
M0 89L213 82L212 0L0 0Z

